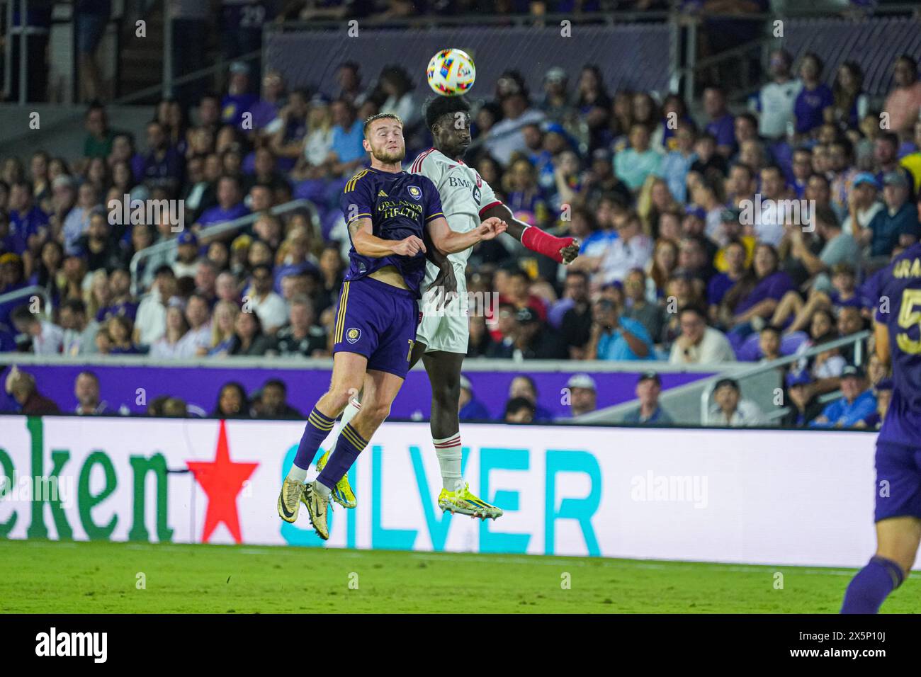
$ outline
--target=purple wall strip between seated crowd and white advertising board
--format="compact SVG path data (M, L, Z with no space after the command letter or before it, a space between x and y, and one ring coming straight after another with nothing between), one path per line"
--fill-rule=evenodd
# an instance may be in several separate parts
M4 359L14 361L0 357L0 382L8 373L6 365L2 363ZM97 360L91 357L70 359L66 364L63 360L57 360L55 364L17 363L19 368L35 377L41 394L50 397L64 412L76 410L74 381L85 369L99 377L100 397L112 414L119 411L125 414L146 414L147 404L160 395L179 397L193 410L210 413L216 407L217 393L228 381L238 381L248 393L252 393L262 388L267 379L281 379L287 386L288 403L306 416L329 388L332 378L330 359L307 361L257 357L251 361L241 360L236 357L223 363L175 360L168 366L146 365L144 357L128 356L119 359L105 356ZM636 379L649 368L659 370L663 391L706 379L716 373L712 368L678 371L674 367L654 362L628 363L624 371L601 371L595 363L589 362L559 362L552 371L540 371L532 362L498 362L474 359L464 362L464 373L471 380L473 393L484 404L492 419L502 418L508 399L508 387L519 374L534 379L538 404L543 409L554 417L568 417L569 406L564 391L566 381L573 374L587 372L593 375L598 385L598 408L603 409L634 400ZM639 364L642 366L637 367ZM608 363L607 367L611 368L612 364ZM427 419L431 401L431 385L424 368L419 365L409 373L405 387L393 402L391 418ZM0 412L18 411L18 403L6 392L0 391Z

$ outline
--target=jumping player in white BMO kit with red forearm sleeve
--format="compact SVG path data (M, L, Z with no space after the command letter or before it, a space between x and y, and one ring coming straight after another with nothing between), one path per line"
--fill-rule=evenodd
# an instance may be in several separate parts
M497 200L493 189L475 169L463 162L471 145L470 104L462 97L437 97L426 106L426 125L432 133L434 146L415 159L411 173L422 174L438 189L445 216L452 230L463 233L477 228L491 216L508 225L507 233L537 253L549 256L557 263L570 263L578 255L578 242L573 238L557 238L540 228L529 226L512 216L511 210ZM434 248L433 248L434 249ZM461 476L461 421L458 403L461 398L461 364L467 355L470 338L469 304L464 274L471 250L452 253L439 266L426 262L423 289L430 289L422 303L422 321L416 332L411 365L422 359L432 385L432 414L429 420L432 443L441 469L442 490L438 507L449 512L480 519L495 519L502 509L474 496ZM445 279L443 269L454 269L457 297L439 309L453 289L439 288ZM439 303L440 300L440 303ZM353 399L346 407L339 429L360 409ZM333 437L338 431L333 433ZM332 445L327 446L332 447ZM324 454L317 463L322 469L327 461ZM332 498L346 508L355 508L356 497L348 484L348 475L336 485Z

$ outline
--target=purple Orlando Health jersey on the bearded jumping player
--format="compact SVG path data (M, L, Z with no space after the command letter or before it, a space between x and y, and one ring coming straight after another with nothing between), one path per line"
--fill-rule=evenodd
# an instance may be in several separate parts
M356 218L370 217L371 233L381 239L405 239L410 235L423 239L426 224L444 216L435 184L424 176L405 171L362 169L345 184L339 205L346 225ZM426 254L422 251L415 256L391 254L372 258L359 254L353 244L348 258L346 280L357 280L392 265L400 271L415 298L421 298L419 287L426 275Z

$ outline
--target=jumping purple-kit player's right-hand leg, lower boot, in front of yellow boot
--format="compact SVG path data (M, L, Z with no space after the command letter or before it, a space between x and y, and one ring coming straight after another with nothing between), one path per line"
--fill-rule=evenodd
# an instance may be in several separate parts
M393 398L400 391L402 382L402 377L395 374L377 369L367 370L361 410L351 422L343 426L326 467L316 480L307 485L303 501L310 515L310 523L321 539L330 537L326 510L332 490L367 447L367 441L380 424L390 415Z

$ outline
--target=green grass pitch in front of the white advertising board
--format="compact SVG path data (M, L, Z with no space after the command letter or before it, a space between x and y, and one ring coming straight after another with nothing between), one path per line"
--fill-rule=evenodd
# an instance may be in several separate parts
M778 572L783 589L775 589ZM139 574L146 589L137 587ZM503 554L0 541L0 612L834 613L852 575ZM891 613L919 609L914 578L883 605Z

